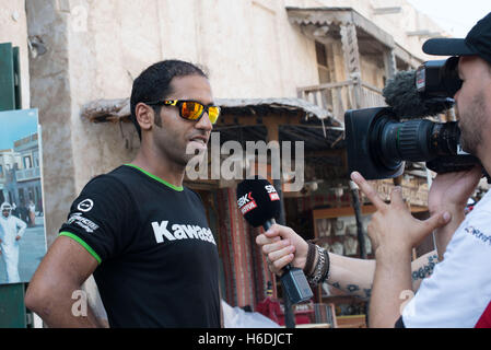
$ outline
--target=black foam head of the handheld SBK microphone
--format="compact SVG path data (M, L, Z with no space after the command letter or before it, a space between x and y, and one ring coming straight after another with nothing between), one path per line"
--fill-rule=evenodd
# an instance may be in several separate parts
M258 228L280 215L281 202L274 186L256 176L237 185L237 205L245 220Z

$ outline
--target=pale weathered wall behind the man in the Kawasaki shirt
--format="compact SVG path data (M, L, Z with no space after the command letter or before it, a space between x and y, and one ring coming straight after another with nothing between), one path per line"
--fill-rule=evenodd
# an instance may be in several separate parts
M48 244L86 182L131 161L138 150L131 125L82 119L85 103L129 96L145 67L168 58L204 66L215 97L295 97L299 86L317 84L318 74L314 42L289 22L287 5L353 7L420 54L420 40L405 37L408 27L400 26L398 16L407 14L373 15L374 3L384 1L26 0L28 35L47 48L31 58L30 81L43 127ZM390 1L397 4L413 11L406 1ZM340 44L332 50L334 79L344 80ZM381 85L373 60L362 57L362 65Z

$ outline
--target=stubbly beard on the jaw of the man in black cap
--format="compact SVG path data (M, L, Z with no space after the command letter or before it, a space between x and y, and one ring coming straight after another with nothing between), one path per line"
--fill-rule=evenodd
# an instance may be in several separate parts
M487 124L483 93L472 97L469 108L458 112L461 148L464 151L477 156L478 147L482 142L482 131L486 129Z

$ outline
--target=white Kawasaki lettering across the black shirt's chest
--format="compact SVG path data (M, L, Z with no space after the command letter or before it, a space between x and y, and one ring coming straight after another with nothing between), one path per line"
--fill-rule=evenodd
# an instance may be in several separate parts
M200 228L197 225L186 225L186 224L173 224L168 226L168 221L162 221L161 223L154 221L152 222L153 233L155 235L156 243L163 243L165 240L186 240L186 238L198 238L201 241L210 242L217 245L213 238L213 233L209 228Z

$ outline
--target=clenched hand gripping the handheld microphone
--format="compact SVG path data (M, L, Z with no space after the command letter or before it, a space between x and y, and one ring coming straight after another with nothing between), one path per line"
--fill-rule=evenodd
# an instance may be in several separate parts
M256 243L261 247L269 270L273 273L281 275L281 269L290 262L301 269L305 267L308 245L290 228L274 224L258 235Z

